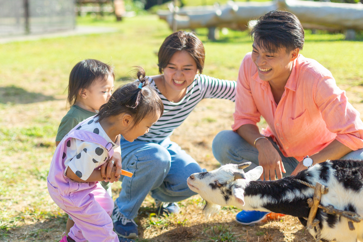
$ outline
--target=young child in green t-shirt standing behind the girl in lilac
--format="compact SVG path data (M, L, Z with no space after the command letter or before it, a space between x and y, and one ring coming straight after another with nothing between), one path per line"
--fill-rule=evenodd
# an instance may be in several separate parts
M114 88L115 74L111 66L93 59L78 62L69 75L67 104L70 109L59 125L56 145L78 123L97 114L99 107L109 101ZM101 185L112 196L111 182ZM66 233L74 225L69 217Z

